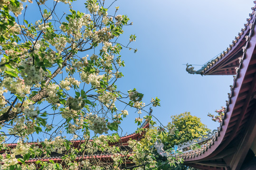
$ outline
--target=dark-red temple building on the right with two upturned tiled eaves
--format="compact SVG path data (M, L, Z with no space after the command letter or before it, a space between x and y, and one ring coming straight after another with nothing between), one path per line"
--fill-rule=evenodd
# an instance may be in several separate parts
M256 4L256 1L254 1ZM196 151L184 151L188 166L200 170L256 170L256 6L247 24L216 59L199 70L187 64L190 74L233 75L227 107L218 130ZM180 147L192 144L180 144ZM182 149L182 148L181 148Z

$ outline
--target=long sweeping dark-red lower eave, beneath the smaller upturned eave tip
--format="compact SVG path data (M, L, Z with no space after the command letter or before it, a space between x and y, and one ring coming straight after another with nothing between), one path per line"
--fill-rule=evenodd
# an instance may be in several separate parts
M243 135L241 133L249 125L255 126L252 117L256 114L256 28L252 29L231 93L228 94L227 110L219 132L210 144L198 151L183 154L186 164L217 158L233 139Z

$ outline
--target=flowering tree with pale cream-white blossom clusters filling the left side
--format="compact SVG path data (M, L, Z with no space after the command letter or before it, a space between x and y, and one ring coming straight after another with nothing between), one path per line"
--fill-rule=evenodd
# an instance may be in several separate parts
M125 66L120 51L137 51L129 47L135 35L127 45L118 42L123 26L131 25L129 18L117 15L119 7L108 14L113 3L104 0L85 1L86 13L74 10L72 2L0 0L1 169L100 170L121 169L122 164L127 169L129 156L134 169L153 169L158 166L155 155L140 147L140 141L129 141L127 150L110 145L120 139L112 132L128 116L127 106L139 115L147 113L142 93L122 93L116 86ZM59 14L58 6L69 11ZM40 17L28 22L29 10ZM151 103L159 102L155 98ZM152 115L144 119L155 124ZM66 136L84 142L75 147ZM10 148L13 142L16 147ZM52 153L63 156L41 161ZM112 162L95 157L101 153L110 154ZM29 163L33 158L38 161Z

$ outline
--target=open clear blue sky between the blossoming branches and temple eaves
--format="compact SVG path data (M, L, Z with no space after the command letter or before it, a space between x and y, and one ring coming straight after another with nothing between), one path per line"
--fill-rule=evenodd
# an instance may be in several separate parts
M123 37L137 35L138 52L122 53L122 89L137 88L145 102L160 98L153 114L163 125L171 115L190 111L216 129L219 124L207 114L226 106L233 77L190 75L183 64L202 65L226 50L247 23L253 0L118 0L115 6L133 22ZM130 121L122 127L128 134L136 129Z

